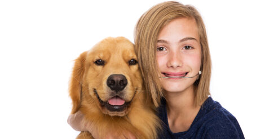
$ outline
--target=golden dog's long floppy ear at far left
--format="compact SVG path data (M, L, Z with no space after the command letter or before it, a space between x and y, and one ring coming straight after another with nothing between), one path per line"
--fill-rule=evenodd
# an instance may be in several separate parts
M82 78L85 73L86 53L83 52L74 62L74 68L69 86L69 95L72 98L72 114L76 113L81 105Z

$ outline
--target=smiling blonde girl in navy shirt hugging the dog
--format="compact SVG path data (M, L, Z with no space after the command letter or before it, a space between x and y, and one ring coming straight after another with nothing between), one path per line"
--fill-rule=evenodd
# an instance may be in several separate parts
M210 97L208 40L194 7L153 6L136 25L135 50L146 92L162 120L158 138L244 138L236 118ZM68 122L90 131L81 119L70 115Z

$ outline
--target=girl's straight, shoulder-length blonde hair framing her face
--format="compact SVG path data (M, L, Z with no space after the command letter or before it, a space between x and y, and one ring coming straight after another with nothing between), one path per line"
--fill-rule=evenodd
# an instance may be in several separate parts
M198 34L202 50L201 71L202 74L195 85L195 105L201 105L210 95L211 59L208 47L206 29L201 15L195 7L182 5L179 2L163 2L150 8L139 19L135 27L134 42L138 56L139 66L142 70L145 89L150 92L155 106L158 106L161 97L164 97L158 75L156 61L156 44L158 34L171 20L187 17L194 18L198 26Z

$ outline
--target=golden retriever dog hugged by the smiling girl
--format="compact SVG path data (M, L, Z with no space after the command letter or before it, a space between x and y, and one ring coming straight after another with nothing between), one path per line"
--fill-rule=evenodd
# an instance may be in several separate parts
M160 127L137 64L134 44L106 38L76 59L70 81L72 114L80 110L104 138L129 131L136 138L157 138ZM77 138L92 138L81 132Z

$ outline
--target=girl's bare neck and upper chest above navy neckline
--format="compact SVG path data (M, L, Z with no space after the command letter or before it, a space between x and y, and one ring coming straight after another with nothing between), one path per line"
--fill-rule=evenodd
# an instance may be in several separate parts
M194 87L182 92L165 92L165 98L171 131L187 131L200 110L200 106L195 105Z

